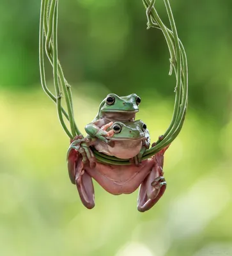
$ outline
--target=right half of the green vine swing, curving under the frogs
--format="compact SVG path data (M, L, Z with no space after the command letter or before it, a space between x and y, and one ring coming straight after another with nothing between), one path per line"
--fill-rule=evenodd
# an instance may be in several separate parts
M166 0L165 0L166 1ZM149 8L149 4L146 0L143 0L144 5L146 8ZM150 4L153 4L155 1L152 1ZM176 99L174 104L174 113L173 113L173 119L171 121L171 124L169 125L169 128L167 129L164 136L164 140L157 141L157 145L155 147L150 148L150 150L147 150L144 153L143 160L148 159L149 157L153 156L157 152L159 152L162 148L169 145L175 138L178 136L182 129L182 125L184 122L184 117L186 113L187 108L187 92L188 92L188 81L187 81L187 58L185 54L185 49L183 48L182 42L180 42L176 27L174 24L173 15L171 13L171 7L169 3L166 1L166 8L167 13L169 15L171 27L174 31L171 31L170 29L167 29L166 26L162 23L161 19L159 18L158 13L156 12L155 8L152 8L151 10L151 17L153 20L155 20L155 23L152 22L152 26L158 27L162 30L164 33L164 36L166 38L167 45L169 47L169 52L171 54L171 60L173 60L173 66L176 70ZM151 7L150 7L151 8ZM149 20L148 20L149 22ZM174 45L173 45L174 41ZM175 51L175 52L174 52ZM174 54L173 54L174 52ZM183 67L183 70L182 70ZM181 103L180 103L181 102ZM96 154L95 154L96 156ZM96 156L99 161L106 161L102 156ZM108 158L108 157L107 157ZM104 159L104 160L103 160ZM107 163L110 164L129 164L128 161L120 161L116 162L116 158L107 159ZM105 162L106 163L106 162Z

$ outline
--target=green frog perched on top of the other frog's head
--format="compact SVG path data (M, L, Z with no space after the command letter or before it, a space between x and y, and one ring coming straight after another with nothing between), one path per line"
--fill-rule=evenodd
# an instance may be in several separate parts
M107 102L109 97L114 98L114 102L112 104ZM86 132L89 136L97 137L99 140L108 143L109 140L106 138L108 136L107 132L100 128L110 122L134 121L135 113L139 111L139 103L140 98L135 93L123 97L110 93L104 100L102 100L97 116L90 124L86 125Z

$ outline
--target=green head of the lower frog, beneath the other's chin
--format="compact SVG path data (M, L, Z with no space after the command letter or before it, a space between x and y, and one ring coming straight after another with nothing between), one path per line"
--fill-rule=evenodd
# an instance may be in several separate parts
M107 130L114 132L112 137L107 137L112 141L143 141L150 136L146 124L141 120L126 123L114 122Z

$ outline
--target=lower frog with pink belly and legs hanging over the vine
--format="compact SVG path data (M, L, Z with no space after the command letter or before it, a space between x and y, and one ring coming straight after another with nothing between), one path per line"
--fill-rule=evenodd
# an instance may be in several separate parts
M134 159L142 148L150 146L149 131L141 120L134 121L133 118L129 122L111 121L98 129L99 134L104 134L104 140L87 136L84 142L90 151L89 160L94 158L91 147L108 156ZM77 186L82 203L88 209L95 206L92 178L113 195L132 193L140 186L137 209L141 212L148 211L164 194L166 180L163 177L162 166L167 147L140 164L114 165L82 161L79 153L82 143L82 137L71 143L67 157L68 172L72 183Z

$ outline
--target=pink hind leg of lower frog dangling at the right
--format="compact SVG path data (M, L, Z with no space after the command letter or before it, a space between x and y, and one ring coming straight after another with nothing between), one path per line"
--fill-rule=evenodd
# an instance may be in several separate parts
M164 174L162 168L164 164L164 152L166 148L160 150L152 157L153 168L146 179L143 180L139 188L139 196L137 200L137 209L140 212L148 211L155 205L166 190L166 180L162 176Z

